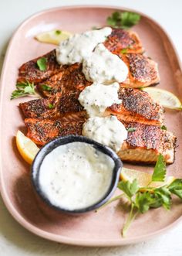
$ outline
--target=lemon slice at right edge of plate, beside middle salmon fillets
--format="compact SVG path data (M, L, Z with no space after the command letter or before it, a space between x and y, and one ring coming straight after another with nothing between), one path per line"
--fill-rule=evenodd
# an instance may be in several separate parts
M154 101L158 101L164 108L182 110L182 105L177 96L168 90L163 90L156 87L146 87L142 90L147 91Z

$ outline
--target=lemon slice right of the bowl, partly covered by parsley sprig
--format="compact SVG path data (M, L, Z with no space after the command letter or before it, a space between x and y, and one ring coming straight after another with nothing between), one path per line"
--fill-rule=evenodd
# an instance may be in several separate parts
M149 187L160 187L164 185L169 185L174 181L174 176L168 176L166 177L166 180L164 182L151 182L152 175L147 172L140 172L136 171L134 169L127 169L122 168L120 179L123 179L123 181L130 181L132 182L134 179L137 179L138 185L142 188L143 186L149 186Z

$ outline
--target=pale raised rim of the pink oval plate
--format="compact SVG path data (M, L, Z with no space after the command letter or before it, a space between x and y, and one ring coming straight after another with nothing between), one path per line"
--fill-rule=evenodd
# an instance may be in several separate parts
M54 11L58 11L58 10L61 11L62 9L79 9L79 8L81 8L81 9L91 9L91 8L118 9L118 10L130 11L130 12L137 12L140 15L143 15L143 17L145 17L145 18L149 19L151 22L153 22L167 36L169 43L171 44L171 46L174 49L175 56L177 57L177 64L181 71L180 56L177 53L176 46L174 46L174 43L170 39L170 36L165 31L165 29L163 29L163 27L160 26L160 24L158 22L156 22L156 20L152 19L149 15L146 15L143 12L139 12L137 10L125 8L123 6L118 6L118 5L67 5L67 6L65 5L65 6L61 6L61 7L45 9L40 12L35 12L35 14L30 15L27 19L25 19L23 22L21 22L21 24L18 26L18 28L15 29L15 32L13 32L12 38L9 40L8 47L7 47L6 53L5 53L5 60L2 65L1 80L0 80L0 118L2 118L2 98L3 98L2 84L4 84L4 80L5 80L4 73L5 73L5 70L7 67L7 56L9 55L9 52L12 48L12 43L14 41L14 38L15 38L17 32L19 32L19 30L23 26L25 26L25 24L27 22L31 22L32 19L35 19L39 15L43 15L45 13L54 12ZM1 148L2 148L2 144L1 144ZM25 227L25 229L29 230L33 234L38 235L39 237L43 237L49 241L56 241L56 242L63 243L63 244L72 244L72 245L88 246L88 247L98 247L98 246L99 247L111 247L111 246L121 246L124 244L136 244L141 241L146 241L152 237L155 237L155 236L163 233L165 230L168 230L168 229L174 227L175 225L177 225L177 223L179 223L182 220L182 216L181 216L181 217L177 218L177 220L174 220L174 222L172 222L171 224L167 225L166 227L163 227L162 229L154 231L150 234L141 235L139 237L135 237L135 238L129 238L129 237L122 238L121 237L120 239L104 240L104 241L88 241L88 240L83 241L82 239L70 238L70 237L62 236L60 234L52 234L52 233L46 232L45 230L42 230L41 228L38 228L35 225L29 223L28 220L25 220L25 218L22 217L22 215L19 213L19 211L15 210L15 207L13 207L13 205L8 197L8 193L6 193L4 183L2 182L2 154L0 154L0 193L2 195L2 200L5 203L5 207L7 207L9 213L11 213L12 217L19 224L21 224L22 227Z

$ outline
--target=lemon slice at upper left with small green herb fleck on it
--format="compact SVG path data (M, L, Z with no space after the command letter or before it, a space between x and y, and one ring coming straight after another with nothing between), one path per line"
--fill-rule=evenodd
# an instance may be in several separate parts
M42 43L52 43L58 45L63 40L68 39L69 36L72 36L72 33L55 29L49 32L42 32L39 35L35 36L35 39Z

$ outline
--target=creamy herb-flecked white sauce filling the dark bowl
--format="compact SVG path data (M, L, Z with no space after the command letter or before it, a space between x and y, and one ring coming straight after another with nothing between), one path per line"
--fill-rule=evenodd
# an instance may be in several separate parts
M39 171L39 186L52 205L78 210L105 196L113 168L113 159L93 145L72 142L45 156Z

